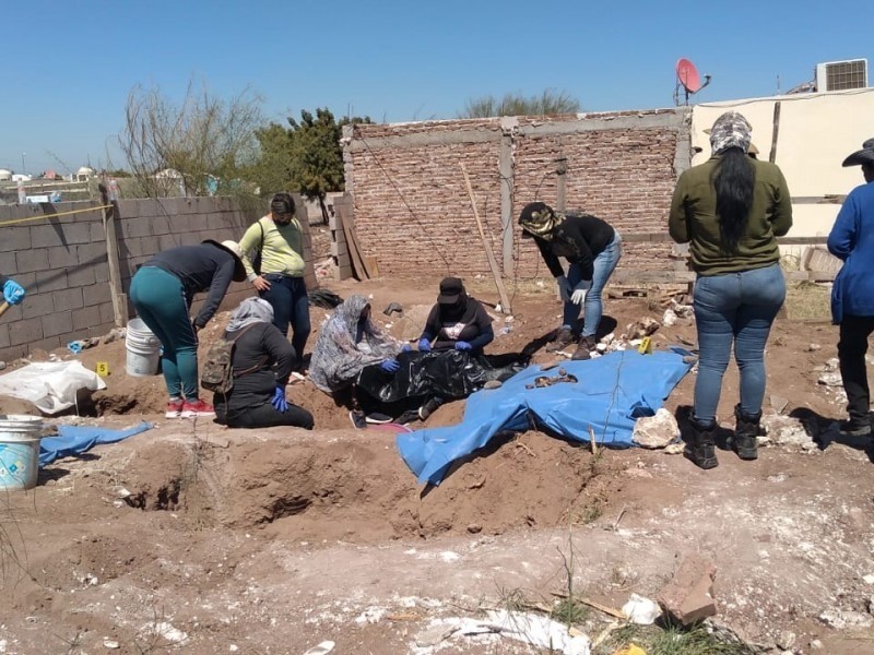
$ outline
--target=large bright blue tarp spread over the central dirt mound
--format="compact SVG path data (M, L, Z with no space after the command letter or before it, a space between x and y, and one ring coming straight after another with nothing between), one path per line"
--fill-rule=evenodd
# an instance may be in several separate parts
M525 389L541 376L555 377L530 366L499 389L479 391L468 398L461 424L399 434L398 450L420 484L438 485L456 460L483 448L496 433L523 431L534 425L545 431L589 441L589 426L600 444L634 445L635 420L652 416L671 390L688 372L682 348L641 355L618 350L587 361L562 365L576 383Z

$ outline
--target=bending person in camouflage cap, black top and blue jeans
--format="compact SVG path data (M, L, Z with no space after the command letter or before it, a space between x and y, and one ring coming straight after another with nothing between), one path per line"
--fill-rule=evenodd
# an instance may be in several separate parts
M552 349L562 349L576 341L575 325L583 308L582 334L574 359L590 359L604 312L601 291L622 257L619 233L595 216L566 215L542 202L527 204L519 225L522 236L533 237L538 243L565 302L564 320ZM570 262L567 273L559 257Z

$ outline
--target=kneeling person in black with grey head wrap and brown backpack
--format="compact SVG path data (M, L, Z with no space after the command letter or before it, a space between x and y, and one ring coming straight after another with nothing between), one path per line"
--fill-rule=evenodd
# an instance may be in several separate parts
M312 415L285 400L297 361L294 348L273 325L273 308L246 298L231 315L224 338L233 340L234 386L213 397L216 421L229 428L294 426L312 429Z

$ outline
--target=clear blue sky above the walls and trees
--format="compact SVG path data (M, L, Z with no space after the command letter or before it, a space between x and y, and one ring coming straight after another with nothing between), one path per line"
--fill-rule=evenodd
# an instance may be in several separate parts
M671 107L687 58L712 80L692 103L770 96L818 62L874 66L873 19L855 0L10 2L0 168L125 168L115 143L138 85L175 103L192 81L248 90L281 123L319 107L405 122L546 90L583 111Z

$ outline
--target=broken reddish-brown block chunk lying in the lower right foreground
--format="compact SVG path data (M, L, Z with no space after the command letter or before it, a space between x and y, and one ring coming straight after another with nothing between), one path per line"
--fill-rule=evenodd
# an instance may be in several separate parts
M683 626L690 626L717 614L713 580L717 568L702 555L689 555L683 560L657 598L665 614Z

